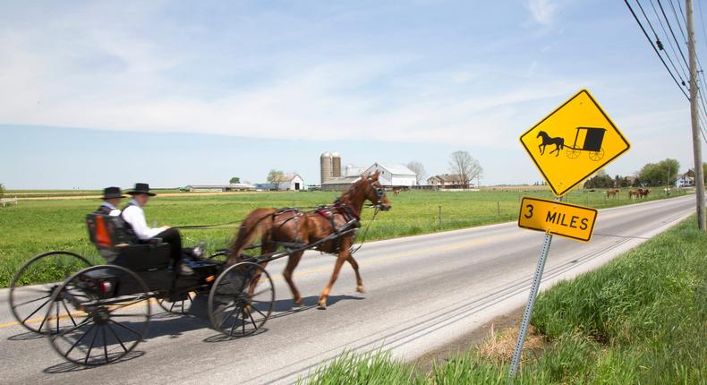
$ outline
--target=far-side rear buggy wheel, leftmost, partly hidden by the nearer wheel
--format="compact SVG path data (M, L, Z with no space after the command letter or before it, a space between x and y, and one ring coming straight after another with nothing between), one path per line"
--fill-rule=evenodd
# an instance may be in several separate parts
M51 299L55 288L61 283L24 285L41 281L49 274L63 280L90 265L88 260L73 252L45 252L27 261L17 270L10 285L10 310L14 319L25 329L35 333L55 332L56 329L49 327L44 316L47 312L52 312L55 317L61 318L68 312L64 298L57 297L55 301Z

